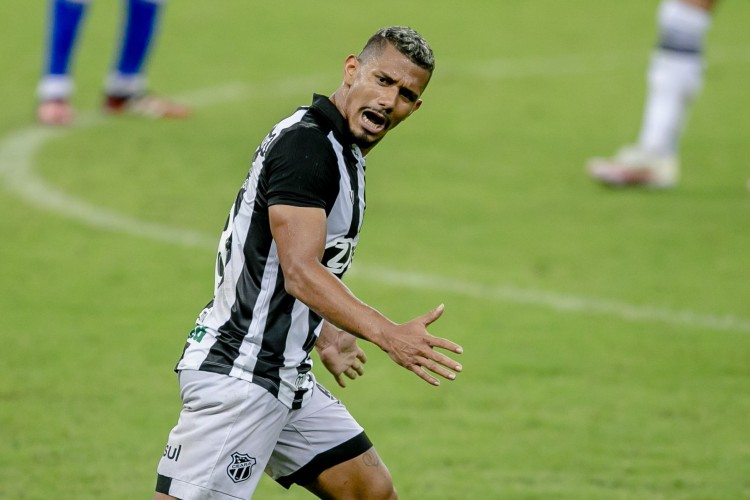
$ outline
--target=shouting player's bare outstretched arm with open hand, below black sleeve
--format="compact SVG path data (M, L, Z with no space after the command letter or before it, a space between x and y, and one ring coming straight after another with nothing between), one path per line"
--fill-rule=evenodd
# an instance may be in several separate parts
M321 264L326 217L320 208L273 205L269 208L286 290L331 324L368 340L390 358L432 385L430 372L453 380L461 365L435 348L460 354L450 340L434 337L427 327L443 314L443 305L406 323L397 324L359 300Z

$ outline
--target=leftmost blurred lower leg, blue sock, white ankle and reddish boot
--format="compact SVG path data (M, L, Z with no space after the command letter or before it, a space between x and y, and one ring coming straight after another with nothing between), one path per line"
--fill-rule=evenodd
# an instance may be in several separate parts
M68 100L73 93L70 66L88 0L50 0L44 67L37 87L37 118L48 125L66 125L73 120Z

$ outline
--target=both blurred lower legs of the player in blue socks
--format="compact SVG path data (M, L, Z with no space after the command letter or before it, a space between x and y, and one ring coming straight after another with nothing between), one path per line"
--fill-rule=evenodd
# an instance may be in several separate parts
M147 93L143 74L164 0L123 0L117 60L104 82L103 111L154 118L186 118L186 106ZM37 118L47 125L73 121L70 66L90 0L50 0L44 74L37 88Z

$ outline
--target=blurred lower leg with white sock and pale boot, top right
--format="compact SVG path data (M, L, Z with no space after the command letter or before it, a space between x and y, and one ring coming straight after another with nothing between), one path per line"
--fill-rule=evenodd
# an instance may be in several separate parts
M662 1L638 142L622 147L612 158L589 160L588 172L595 180L613 186L677 184L680 136L703 83L703 44L717 1Z

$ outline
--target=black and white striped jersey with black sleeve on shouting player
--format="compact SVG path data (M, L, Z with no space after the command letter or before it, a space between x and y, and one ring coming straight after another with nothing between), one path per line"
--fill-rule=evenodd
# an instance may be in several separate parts
M255 151L224 226L213 300L190 332L177 370L242 378L298 408L314 384L310 352L322 320L284 289L268 207L325 209L323 264L341 278L365 211L365 160L331 101L315 95Z

